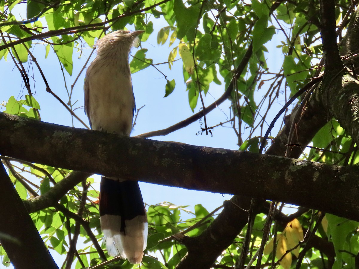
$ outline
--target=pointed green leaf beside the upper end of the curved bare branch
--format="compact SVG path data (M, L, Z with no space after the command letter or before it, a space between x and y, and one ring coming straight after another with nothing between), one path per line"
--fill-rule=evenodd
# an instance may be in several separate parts
M275 34L273 25L268 27L268 20L263 16L254 25L253 28L253 53L256 53L262 45L270 41Z

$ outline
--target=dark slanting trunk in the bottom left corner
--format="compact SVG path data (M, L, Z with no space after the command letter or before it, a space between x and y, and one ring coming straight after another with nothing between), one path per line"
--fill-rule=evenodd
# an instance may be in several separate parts
M58 269L1 162L0 188L0 241L14 267Z

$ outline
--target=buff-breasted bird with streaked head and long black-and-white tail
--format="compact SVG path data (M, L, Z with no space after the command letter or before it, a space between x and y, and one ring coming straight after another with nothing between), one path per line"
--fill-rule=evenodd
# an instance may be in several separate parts
M136 107L129 53L138 47L143 32L118 30L96 42L97 56L87 69L84 85L85 114L92 129L130 136ZM103 176L99 210L109 255L140 263L148 225L138 183Z

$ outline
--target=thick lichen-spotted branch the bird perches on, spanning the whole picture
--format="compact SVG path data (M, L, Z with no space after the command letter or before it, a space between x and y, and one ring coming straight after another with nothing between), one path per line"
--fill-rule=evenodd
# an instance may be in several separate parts
M0 113L0 125L1 155L130 180L278 200L359 220L356 166L119 137L5 113Z

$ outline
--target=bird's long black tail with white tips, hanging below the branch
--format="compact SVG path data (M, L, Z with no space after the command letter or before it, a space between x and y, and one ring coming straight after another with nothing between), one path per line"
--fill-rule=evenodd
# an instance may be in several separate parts
M136 181L102 177L100 220L108 254L130 263L142 261L147 244L147 216Z

